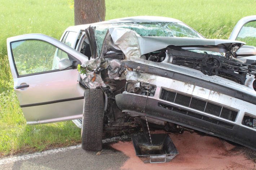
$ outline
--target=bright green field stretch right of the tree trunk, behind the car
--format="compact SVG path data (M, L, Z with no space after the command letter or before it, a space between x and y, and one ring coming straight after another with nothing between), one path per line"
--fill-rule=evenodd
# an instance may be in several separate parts
M136 15L171 17L207 38L228 38L238 20L255 15L255 10L255 0L106 0L106 19Z

